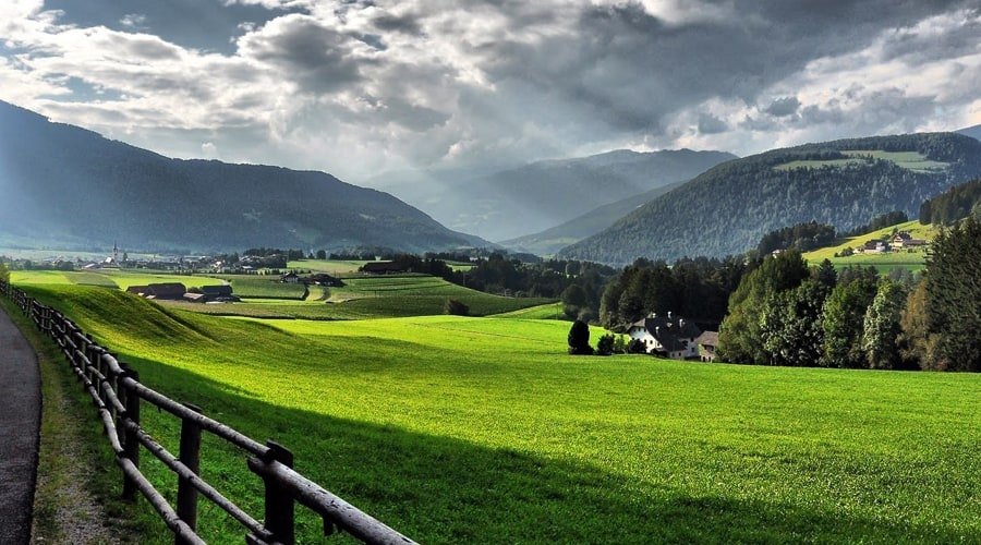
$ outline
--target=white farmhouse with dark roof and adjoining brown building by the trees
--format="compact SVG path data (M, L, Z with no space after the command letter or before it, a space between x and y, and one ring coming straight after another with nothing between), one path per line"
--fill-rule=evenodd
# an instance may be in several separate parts
M666 316L651 313L631 324L627 334L643 342L649 354L671 360L715 361L718 332L702 331L693 322L673 316L670 312Z

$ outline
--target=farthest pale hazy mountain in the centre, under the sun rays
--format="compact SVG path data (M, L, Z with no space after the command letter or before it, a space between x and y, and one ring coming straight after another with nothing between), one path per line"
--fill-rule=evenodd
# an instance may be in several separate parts
M576 159L532 162L498 172L433 172L372 183L432 214L452 229L499 241L569 221L596 206L651 191L736 158L691 149L616 150Z

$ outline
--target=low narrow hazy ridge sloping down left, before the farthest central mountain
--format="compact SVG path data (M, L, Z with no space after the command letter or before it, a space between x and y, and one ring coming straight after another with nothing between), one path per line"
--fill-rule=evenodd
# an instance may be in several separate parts
M675 187L679 187L683 183L685 182L675 182L654 187L640 195L632 195L622 201L593 208L578 218L570 219L565 223L546 229L540 233L506 240L500 244L520 252L531 252L537 255L552 255L569 244L598 233L616 223L618 219L637 208L640 208L649 201L653 201Z

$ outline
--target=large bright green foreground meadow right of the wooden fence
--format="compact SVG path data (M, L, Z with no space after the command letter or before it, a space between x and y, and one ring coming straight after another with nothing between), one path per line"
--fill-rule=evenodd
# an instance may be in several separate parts
M144 382L289 446L300 471L423 543L981 535L978 375L569 356L556 320L259 323L31 289ZM172 445L177 426L144 414ZM205 451L206 479L261 514L243 457ZM241 543L230 528L202 513L208 541ZM317 531L305 518L301 542Z

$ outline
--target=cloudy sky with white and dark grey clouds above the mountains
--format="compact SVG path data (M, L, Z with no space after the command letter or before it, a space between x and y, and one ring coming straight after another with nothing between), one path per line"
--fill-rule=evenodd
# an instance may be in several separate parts
M981 123L981 0L3 0L0 99L352 182Z

